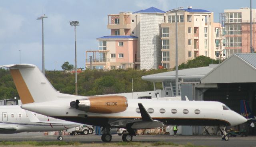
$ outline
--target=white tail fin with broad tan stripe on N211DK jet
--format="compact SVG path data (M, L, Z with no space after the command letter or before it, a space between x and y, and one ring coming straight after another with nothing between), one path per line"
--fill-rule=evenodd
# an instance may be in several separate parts
M4 65L3 67L10 69L22 104L51 101L58 94L35 65L14 64Z

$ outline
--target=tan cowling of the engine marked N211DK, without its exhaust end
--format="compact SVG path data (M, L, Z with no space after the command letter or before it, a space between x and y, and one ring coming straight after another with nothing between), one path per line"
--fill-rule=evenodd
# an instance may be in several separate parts
M118 113L128 107L127 98L124 96L95 96L90 97L90 109L92 113Z

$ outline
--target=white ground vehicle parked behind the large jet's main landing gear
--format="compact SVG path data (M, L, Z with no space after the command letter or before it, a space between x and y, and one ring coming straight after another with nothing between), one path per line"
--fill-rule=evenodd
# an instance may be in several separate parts
M70 135L87 135L92 134L94 132L94 129L91 125L80 125L79 127L74 127L69 131L71 132Z

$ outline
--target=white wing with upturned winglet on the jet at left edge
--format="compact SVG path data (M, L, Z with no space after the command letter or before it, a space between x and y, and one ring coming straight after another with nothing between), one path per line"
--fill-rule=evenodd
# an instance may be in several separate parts
M65 124L65 125L83 125L81 123L68 122L68 121L40 121L31 111L25 110L30 122L36 123L52 123L52 124ZM55 119L56 120L56 119Z

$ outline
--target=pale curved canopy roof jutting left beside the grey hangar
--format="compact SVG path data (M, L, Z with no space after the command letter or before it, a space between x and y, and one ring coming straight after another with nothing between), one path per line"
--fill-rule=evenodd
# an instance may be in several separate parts
M200 82L201 78L203 78L206 74L212 71L214 67L217 66L218 65L209 65L208 67L182 69L178 71L178 75L183 82ZM142 76L142 80L147 80L150 82L163 82L165 80L175 81L175 78L175 71Z

